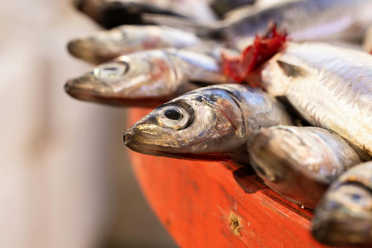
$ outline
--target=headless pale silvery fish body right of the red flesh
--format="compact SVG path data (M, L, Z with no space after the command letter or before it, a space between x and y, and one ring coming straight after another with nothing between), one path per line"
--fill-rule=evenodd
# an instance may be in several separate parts
M262 86L312 126L336 132L372 155L372 56L324 43L288 44L262 70Z

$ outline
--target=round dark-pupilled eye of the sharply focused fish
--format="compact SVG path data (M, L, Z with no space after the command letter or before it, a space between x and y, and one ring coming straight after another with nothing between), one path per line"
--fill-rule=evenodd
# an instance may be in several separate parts
M194 119L193 110L189 108L190 106L167 106L160 109L157 114L158 125L174 130L187 128Z

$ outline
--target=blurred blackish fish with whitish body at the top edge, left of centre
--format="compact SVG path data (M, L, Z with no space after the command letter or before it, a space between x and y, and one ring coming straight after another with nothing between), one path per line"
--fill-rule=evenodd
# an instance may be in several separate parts
M197 21L216 20L208 3L199 0L74 0L74 4L78 10L107 29L124 24L144 24L142 13L179 16Z

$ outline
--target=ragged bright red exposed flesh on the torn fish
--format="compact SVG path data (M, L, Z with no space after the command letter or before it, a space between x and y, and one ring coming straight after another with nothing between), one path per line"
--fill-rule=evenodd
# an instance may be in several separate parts
M256 35L253 45L248 46L238 57L222 55L224 74L242 83L249 73L283 49L286 41L287 33L279 32L276 25L271 25L266 35Z

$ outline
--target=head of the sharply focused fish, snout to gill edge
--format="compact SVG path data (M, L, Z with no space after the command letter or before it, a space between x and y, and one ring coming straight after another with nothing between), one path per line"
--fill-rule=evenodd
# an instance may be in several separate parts
M212 87L157 107L124 134L125 145L134 151L187 160L228 161L244 141L239 106Z

